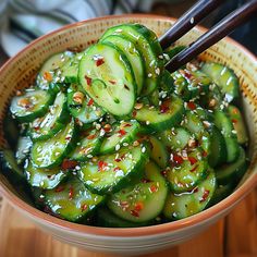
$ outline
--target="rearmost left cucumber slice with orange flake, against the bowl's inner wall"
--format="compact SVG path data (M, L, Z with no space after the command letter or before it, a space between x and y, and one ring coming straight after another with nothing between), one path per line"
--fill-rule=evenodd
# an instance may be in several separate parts
M36 85L37 87L48 90L51 83L62 83L60 68L64 65L65 62L73 58L74 53L71 51L59 52L51 56L46 60L37 75Z

